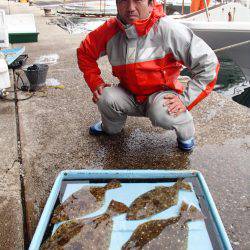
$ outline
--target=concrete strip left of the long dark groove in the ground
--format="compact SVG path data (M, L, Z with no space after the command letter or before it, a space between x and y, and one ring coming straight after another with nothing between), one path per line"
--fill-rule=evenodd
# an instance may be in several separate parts
M0 101L0 145L0 249L11 249L13 246L22 249L20 164L13 101Z

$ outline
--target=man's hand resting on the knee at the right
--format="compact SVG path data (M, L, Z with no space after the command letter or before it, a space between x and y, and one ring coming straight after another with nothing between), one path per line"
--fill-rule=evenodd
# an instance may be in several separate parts
M177 116L187 110L180 98L174 94L164 96L164 106L168 107L169 114L173 116Z

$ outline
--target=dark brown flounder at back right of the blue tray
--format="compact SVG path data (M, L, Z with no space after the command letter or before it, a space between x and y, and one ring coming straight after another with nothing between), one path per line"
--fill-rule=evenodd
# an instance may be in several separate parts
M126 219L144 219L176 205L179 189L192 190L188 183L177 180L173 186L155 187L153 190L142 194L130 205Z

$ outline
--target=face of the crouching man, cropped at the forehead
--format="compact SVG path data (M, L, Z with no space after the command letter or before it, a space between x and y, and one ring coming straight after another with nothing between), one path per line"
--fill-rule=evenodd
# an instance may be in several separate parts
M153 3L148 0L116 0L118 15L126 24L139 19L146 19L153 10Z

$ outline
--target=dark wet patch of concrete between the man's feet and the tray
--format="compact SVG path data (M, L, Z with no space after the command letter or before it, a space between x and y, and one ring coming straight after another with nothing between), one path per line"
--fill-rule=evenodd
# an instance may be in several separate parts
M174 131L128 130L117 136L96 138L98 145L93 150L104 169L188 168L189 154L177 148Z

